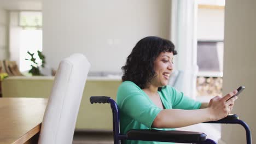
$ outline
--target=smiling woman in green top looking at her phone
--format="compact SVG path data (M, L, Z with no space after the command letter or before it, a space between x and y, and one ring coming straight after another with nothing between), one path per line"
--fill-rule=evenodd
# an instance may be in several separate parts
M117 93L121 133L130 129L170 130L217 121L231 112L237 97L228 99L236 90L223 98L214 97L210 103L200 103L168 86L174 55L177 52L173 43L159 37L143 38L133 48L122 67L123 83ZM166 142L126 140L124 143Z

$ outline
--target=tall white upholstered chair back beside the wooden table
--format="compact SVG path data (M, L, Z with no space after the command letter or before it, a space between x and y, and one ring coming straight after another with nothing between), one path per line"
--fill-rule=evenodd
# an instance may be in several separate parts
M72 143L90 63L79 53L63 59L54 80L38 143Z

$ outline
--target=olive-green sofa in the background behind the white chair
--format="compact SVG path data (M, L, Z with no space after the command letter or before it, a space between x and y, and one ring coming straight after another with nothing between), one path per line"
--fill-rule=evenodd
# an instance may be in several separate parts
M48 98L53 81L53 76L11 76L2 81L2 96ZM88 77L75 130L112 130L112 111L110 105L92 105L89 98L93 95L106 95L115 100L120 83L120 77Z

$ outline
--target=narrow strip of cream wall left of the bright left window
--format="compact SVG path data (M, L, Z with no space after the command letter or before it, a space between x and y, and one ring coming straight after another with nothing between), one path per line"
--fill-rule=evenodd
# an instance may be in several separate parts
M8 12L0 8L0 60L8 58Z

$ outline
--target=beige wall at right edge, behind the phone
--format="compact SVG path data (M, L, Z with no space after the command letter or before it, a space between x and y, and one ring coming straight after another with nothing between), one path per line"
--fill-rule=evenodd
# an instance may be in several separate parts
M255 143L255 61L256 61L256 1L226 0L223 90L228 93L240 85L246 89L238 96L233 113L247 122ZM225 143L241 144L245 130L241 126L225 125L222 130Z

